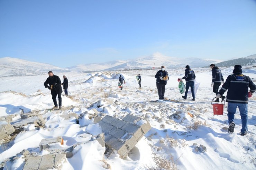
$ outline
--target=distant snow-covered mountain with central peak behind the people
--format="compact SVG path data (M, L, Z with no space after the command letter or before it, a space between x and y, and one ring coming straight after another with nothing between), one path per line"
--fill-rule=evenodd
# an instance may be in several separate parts
M186 65L191 67L203 67L211 63L217 63L221 60L201 59L201 58L176 58L164 56L161 53L154 53L151 56L141 57L133 60L118 60L103 62L97 64L79 64L74 67L68 67L71 70L79 71L111 71L111 70L133 70L133 69L151 69L153 67L184 68Z

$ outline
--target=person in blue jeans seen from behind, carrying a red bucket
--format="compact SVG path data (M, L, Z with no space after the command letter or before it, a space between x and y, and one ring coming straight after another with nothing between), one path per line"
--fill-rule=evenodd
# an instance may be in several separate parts
M235 124L235 113L238 107L242 129L241 136L244 136L248 132L248 88L250 88L249 93L254 93L256 90L256 85L253 81L243 74L242 66L236 65L233 70L233 74L229 75L225 83L222 85L219 93L216 98L220 98L227 90L227 99L228 102L228 133L233 133Z

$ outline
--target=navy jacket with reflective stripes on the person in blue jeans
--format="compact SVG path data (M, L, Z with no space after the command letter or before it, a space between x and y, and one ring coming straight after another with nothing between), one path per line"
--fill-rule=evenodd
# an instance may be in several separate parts
M256 85L253 81L248 76L238 72L228 76L219 94L222 95L228 90L227 102L248 104L248 87L250 92L255 92Z

